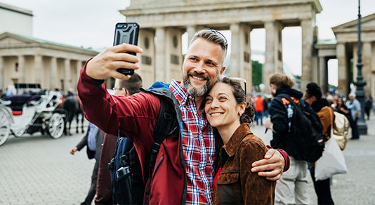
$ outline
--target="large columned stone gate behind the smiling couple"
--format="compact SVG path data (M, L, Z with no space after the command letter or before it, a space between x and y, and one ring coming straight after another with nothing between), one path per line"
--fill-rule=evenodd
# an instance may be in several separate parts
M317 81L317 57L313 44L317 40L315 15L322 11L318 0L131 0L131 6L120 11L127 22L140 24L138 45L144 50L140 55L139 70L144 86L154 81L169 82L181 79L183 64L181 35L188 39L199 29L209 27L230 30L231 55L229 74L242 77L251 91L251 29L265 28L265 65L263 82L268 88L268 78L282 72L282 29L302 28L301 88Z

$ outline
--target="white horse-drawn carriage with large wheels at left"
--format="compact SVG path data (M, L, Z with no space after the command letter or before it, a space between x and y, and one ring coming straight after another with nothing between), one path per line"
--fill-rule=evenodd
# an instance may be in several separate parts
M15 84L18 93L0 99L0 145L9 135L47 133L57 139L64 131L64 110L56 109L60 93L42 90L40 84Z

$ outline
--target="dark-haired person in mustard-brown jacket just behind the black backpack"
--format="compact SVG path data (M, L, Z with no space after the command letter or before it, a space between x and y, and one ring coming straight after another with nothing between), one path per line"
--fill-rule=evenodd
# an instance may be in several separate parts
M324 143L331 138L331 129L334 124L334 107L329 106L329 102L325 98L321 98L313 102L311 105L313 110L317 112L320 117L320 121L323 126ZM310 163L310 174L313 179L315 193L317 194L317 204L330 205L334 204L334 200L331 197L331 178L325 180L315 180L315 164Z

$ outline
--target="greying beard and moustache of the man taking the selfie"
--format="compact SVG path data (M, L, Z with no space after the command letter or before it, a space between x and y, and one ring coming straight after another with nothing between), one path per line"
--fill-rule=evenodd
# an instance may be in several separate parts
M205 79L207 81L206 84L199 89L193 87L192 84L190 84L189 79L189 77L193 76ZM183 74L183 85L185 86L187 93L189 93L193 97L203 96L207 91L209 91L209 88L211 88L210 77L204 76L204 74L199 74L196 71L188 72L186 75Z

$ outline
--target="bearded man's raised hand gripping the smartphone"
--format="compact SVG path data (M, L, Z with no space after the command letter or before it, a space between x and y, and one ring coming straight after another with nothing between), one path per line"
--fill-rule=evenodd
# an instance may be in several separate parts
M129 76L125 76L116 70L118 68L137 70L139 66L136 65L136 62L139 62L139 59L135 55L125 52L143 53L143 50L131 44L121 44L107 48L88 61L86 74L88 77L98 80L107 79L108 77L124 80L129 79Z

